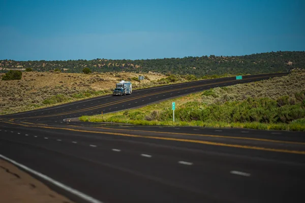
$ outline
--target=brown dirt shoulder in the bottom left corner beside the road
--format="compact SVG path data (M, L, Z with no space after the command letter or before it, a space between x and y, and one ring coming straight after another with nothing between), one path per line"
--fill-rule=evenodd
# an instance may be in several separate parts
M1 202L68 203L72 201L48 188L15 165L0 159Z

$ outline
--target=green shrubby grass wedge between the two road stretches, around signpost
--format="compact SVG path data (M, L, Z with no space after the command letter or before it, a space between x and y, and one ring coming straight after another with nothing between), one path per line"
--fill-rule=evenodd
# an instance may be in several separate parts
M171 103L176 102L175 123ZM279 78L218 87L158 104L82 121L139 125L305 130L305 71Z

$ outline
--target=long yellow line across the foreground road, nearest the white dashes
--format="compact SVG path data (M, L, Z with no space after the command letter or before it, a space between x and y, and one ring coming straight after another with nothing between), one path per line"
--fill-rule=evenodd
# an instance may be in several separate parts
M17 123L11 123L11 124L17 124ZM17 125L23 125L23 124L17 124ZM23 126L25 126L25 125L23 125ZM253 150L262 150L262 151L282 152L282 153L303 154L303 155L305 155L305 151L286 150L286 149L273 149L273 148L264 148L264 147L247 146L247 145L236 145L236 144L226 144L226 143L216 143L216 142L201 141L201 140L189 140L189 139L178 139L178 138L164 138L164 137L156 137L156 136L139 136L139 135L136 135L136 134L125 134L125 133L117 133L117 132L101 132L101 131L92 131L92 130L79 130L79 129L72 129L72 128L64 128L64 127L49 127L49 126L29 126L29 127L40 127L40 128L60 129L60 130L69 130L69 131L77 131L77 132L110 134L110 135L124 136L124 137L146 138L146 139L155 139L155 140L168 140L168 141L197 143L197 144L223 146L223 147L233 147L233 148L241 148L241 149L253 149Z

